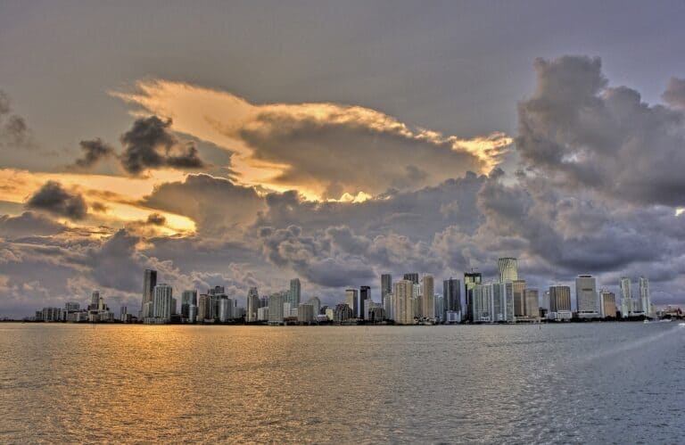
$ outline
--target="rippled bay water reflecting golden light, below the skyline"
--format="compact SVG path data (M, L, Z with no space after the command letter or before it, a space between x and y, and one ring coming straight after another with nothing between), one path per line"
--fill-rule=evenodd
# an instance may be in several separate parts
M0 324L0 442L683 443L685 327Z

